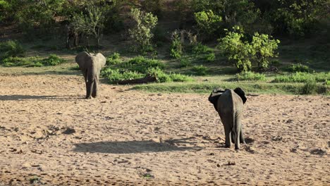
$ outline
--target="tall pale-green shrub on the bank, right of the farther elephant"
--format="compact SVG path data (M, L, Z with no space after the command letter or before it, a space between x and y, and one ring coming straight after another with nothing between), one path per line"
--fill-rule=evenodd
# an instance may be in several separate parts
M152 29L157 25L157 17L152 13L145 13L138 8L130 9L130 17L135 21L133 28L128 30L130 38L133 39L134 51L145 53L152 51Z

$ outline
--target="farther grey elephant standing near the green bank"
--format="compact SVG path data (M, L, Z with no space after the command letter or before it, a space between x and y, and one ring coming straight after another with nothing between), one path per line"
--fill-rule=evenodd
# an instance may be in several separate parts
M101 54L92 54L85 51L75 56L75 62L78 63L86 84L86 99L97 97L97 87L99 84L99 72L106 64L106 58Z

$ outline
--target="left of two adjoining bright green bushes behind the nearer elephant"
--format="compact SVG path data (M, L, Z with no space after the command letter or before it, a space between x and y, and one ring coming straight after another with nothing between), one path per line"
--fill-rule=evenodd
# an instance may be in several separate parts
M237 27L239 30L239 27ZM234 63L239 71L251 69L251 59L255 55L251 44L243 42L244 35L238 32L227 32L226 37L219 39L218 48L228 61Z

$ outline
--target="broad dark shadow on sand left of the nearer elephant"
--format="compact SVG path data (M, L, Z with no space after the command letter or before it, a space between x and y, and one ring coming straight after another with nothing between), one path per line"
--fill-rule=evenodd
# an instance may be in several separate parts
M181 140L182 142L182 140ZM135 154L161 151L200 151L202 147L178 147L168 143L147 141L92 142L74 144L76 152Z

